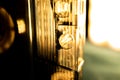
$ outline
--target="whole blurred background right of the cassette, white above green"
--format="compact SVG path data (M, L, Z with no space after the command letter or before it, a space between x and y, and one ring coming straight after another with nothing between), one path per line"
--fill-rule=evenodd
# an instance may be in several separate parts
M87 0L83 80L120 79L118 0Z

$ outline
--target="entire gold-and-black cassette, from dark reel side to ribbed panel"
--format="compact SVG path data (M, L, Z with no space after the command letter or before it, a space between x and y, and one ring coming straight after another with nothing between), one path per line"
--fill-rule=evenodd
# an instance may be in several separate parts
M48 80L77 80L85 26L86 0L0 0L1 73L31 79L43 70Z

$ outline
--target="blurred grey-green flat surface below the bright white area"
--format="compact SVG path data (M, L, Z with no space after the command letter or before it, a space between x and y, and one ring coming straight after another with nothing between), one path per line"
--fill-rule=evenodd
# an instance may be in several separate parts
M120 80L120 52L86 42L83 80Z

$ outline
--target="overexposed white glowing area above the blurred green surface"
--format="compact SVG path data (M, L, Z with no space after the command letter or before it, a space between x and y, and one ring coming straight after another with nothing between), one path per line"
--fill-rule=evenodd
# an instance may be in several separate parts
M90 0L89 40L120 50L120 11L118 0Z

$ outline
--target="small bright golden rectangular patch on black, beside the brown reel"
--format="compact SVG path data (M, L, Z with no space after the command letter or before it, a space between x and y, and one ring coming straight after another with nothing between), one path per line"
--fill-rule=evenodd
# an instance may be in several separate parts
M25 21L23 19L18 19L17 20L17 25L18 25L18 33L22 34L26 32L26 26L25 26Z

